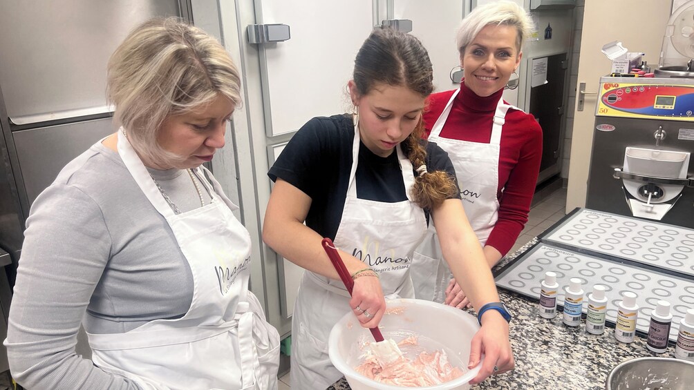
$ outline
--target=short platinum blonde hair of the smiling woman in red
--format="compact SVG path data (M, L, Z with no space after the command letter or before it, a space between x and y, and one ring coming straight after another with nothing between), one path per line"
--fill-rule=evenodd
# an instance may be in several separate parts
M527 15L527 12L521 6L512 1L496 1L475 7L463 19L456 35L460 55L465 53L465 48L475 39L480 30L489 24L515 27L518 31L518 37L516 38L518 51L521 51L525 38L534 29L530 15Z

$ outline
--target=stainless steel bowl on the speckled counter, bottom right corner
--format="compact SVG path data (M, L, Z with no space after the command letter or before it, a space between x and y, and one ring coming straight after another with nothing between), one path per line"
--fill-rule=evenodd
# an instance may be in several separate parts
M607 390L684 390L694 386L694 362L671 357L639 357L619 364Z

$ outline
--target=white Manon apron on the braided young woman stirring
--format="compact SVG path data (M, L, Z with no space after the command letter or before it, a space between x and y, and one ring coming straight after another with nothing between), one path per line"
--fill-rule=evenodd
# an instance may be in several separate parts
M359 129L355 127L347 197L335 246L378 273L384 296L413 298L409 265L426 231L421 207L412 202L412 163L396 147L407 200L396 203L357 199ZM294 305L291 326L291 388L325 389L343 375L330 363L328 336L332 326L350 312L349 294L341 281L305 272Z

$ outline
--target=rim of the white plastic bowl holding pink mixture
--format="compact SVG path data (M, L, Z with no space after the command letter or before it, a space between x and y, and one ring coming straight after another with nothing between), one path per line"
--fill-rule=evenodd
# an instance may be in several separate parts
M422 306L436 306L438 309L441 310L446 310L450 312L451 314L454 314L457 317L461 317L464 319L468 319L469 317L473 317L472 314L461 310L461 309L456 309L452 308L447 305L443 305L441 303L435 303L432 301L424 301L423 299L412 299L412 298L400 298L400 299L387 299L386 300L387 304L389 307L392 305L397 305L398 303L412 303L414 305L422 305ZM403 389L413 389L413 390L440 390L441 386L447 385L447 386L462 386L463 384L466 384L470 382L475 376L477 376L477 373L480 372L480 369L482 369L482 364L484 363L484 355L482 355L482 359L480 360L480 363L477 364L477 366L473 367L472 369L468 369L466 373L461 375L459 378L455 378L454 380L450 380L448 382L442 383L442 384L437 384L434 386L425 386L425 387L400 387L400 386L393 386L392 384L384 384L384 383L379 383L376 382L375 380L371 380L369 378L366 378L364 375L357 373L353 367L349 366L346 364L346 362L341 362L340 360L337 359L337 352L334 351L335 348L330 348L333 345L337 345L337 332L336 329L338 326L344 326L344 323L347 321L348 317L352 317L354 313L352 311L348 311L345 313L344 316L342 316L337 323L335 323L334 326L332 326L332 329L330 330L330 336L328 337L328 356L330 356L330 362L332 362L333 365L335 365L335 368L343 373L345 375L345 378L357 378L364 382L364 380L368 380L369 382L373 382L373 384L378 384L378 387L382 390L403 390ZM475 333L477 330L480 330L480 325L477 323L477 319L473 317L475 321L473 322L473 325L475 327ZM465 367L467 369L467 367ZM349 380L348 380L349 381Z

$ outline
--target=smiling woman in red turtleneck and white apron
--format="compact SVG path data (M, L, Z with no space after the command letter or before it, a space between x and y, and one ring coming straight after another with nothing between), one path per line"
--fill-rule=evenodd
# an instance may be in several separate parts
M457 34L465 72L460 89L432 94L423 118L429 140L446 150L455 166L466 215L490 267L527 222L542 156L539 123L502 100L531 30L532 21L516 3L475 8ZM420 245L411 269L417 298L469 305L464 286L455 283L442 260L435 233Z

